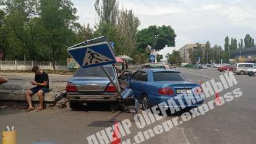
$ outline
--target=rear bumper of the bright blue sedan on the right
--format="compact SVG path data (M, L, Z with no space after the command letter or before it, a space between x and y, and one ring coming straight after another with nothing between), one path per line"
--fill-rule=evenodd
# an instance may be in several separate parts
M169 106L168 100L172 99L171 101L175 101L175 103L172 106ZM197 106L202 105L203 100L200 98L200 96L148 96L148 100L150 102L151 106L155 106L160 103L167 103L168 108L174 108L174 107L186 107L186 108L194 108ZM198 100L198 101L197 101ZM182 103L180 102L182 101ZM194 103L192 103L194 101ZM190 102L190 103L189 103Z

